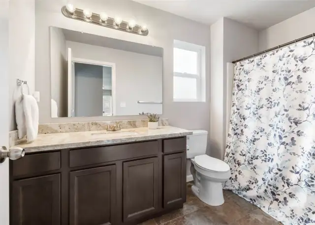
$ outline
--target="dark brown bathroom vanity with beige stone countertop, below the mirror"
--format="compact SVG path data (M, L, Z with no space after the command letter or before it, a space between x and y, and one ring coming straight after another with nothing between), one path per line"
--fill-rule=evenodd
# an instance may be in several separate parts
M43 134L20 145L26 155L10 161L11 224L136 225L182 208L191 132L132 132Z

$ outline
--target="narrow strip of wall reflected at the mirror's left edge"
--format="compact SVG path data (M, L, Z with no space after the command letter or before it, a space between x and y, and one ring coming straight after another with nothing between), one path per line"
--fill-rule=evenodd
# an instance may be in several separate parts
M50 27L51 98L57 102L58 117L67 116L67 49L61 29Z

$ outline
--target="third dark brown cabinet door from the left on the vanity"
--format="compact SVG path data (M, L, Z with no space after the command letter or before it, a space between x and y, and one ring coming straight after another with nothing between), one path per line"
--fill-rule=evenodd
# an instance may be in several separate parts
M158 209L158 158L124 162L124 222L155 213Z

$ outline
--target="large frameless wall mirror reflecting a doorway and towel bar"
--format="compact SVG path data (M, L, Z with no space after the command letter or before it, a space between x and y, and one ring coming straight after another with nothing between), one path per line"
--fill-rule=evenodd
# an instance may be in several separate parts
M163 49L50 27L51 116L162 114Z

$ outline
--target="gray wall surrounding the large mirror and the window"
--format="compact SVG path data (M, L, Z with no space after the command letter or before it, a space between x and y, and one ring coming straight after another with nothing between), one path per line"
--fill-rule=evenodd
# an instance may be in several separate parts
M36 67L35 87L40 91L39 122L99 121L135 119L145 116L92 116L82 118L51 118L50 116L50 59L49 26L90 34L124 39L162 47L163 57L163 115L170 124L186 129L210 128L210 28L130 0L76 0L78 8L91 8L95 12L106 11L109 16L121 15L124 20L136 16L138 24L146 24L146 37L104 28L94 24L69 19L60 12L64 0L36 0ZM198 35L196 35L198 34ZM206 47L206 102L173 102L173 40L182 40Z

